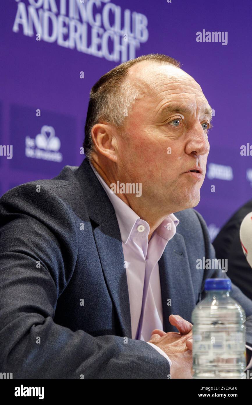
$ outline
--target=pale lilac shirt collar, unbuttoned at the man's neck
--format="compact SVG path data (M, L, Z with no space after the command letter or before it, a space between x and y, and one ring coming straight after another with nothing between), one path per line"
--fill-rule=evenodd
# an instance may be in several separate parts
M104 188L108 198L110 199L111 204L114 207L114 211L116 214L117 222L119 225L119 229L121 232L121 239L123 243L127 243L131 232L140 217L123 201L119 198L116 194L112 192L112 190L108 187L105 183L102 176L95 170L91 162L89 162L91 168L93 169L97 179L100 181L102 187ZM141 222L145 222L141 220ZM179 224L178 218L174 214L169 214L165 220L158 226L155 232L167 239L168 241L172 239L174 234L176 233L176 227ZM147 222L146 222L147 224Z

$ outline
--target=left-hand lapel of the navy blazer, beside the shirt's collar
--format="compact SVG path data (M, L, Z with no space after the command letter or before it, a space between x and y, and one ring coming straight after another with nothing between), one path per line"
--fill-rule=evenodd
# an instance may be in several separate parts
M114 207L87 160L77 169L76 177L83 190L102 271L116 309L122 336L131 338L127 276L123 266L123 247Z

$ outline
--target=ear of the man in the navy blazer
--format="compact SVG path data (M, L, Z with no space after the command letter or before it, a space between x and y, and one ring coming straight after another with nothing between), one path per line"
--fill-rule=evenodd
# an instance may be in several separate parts
M91 130L93 143L97 153L117 162L116 129L110 124L95 124Z

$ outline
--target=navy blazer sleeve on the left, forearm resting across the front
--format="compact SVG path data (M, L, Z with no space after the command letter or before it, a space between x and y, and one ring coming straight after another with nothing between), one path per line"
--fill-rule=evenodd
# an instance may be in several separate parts
M0 369L13 378L165 378L169 362L144 341L93 337L53 321L78 249L72 213L36 183L0 199Z

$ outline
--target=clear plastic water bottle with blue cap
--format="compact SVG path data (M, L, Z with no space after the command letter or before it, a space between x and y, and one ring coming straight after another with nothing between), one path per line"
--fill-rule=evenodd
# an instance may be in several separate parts
M246 314L231 298L231 280L205 280L206 297L192 313L193 378L246 378Z

